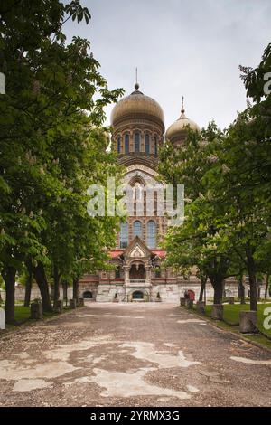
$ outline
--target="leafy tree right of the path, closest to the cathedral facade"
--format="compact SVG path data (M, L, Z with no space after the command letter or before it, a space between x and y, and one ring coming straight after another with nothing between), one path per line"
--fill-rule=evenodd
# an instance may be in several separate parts
M220 304L224 280L236 273L233 250L220 250L214 238L224 225L225 206L215 203L215 182L205 179L219 162L216 156L224 143L223 133L211 123L201 133L189 132L181 147L165 146L160 173L166 183L184 184L185 220L173 227L166 238L167 263L176 269L198 269L202 291L206 276L214 288L214 303ZM235 267L233 267L233 264Z

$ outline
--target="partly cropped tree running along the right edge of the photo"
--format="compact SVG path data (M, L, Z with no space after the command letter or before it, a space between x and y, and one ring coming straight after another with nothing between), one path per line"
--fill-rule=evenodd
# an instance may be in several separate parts
M266 240L261 241L256 254L257 260L261 260L263 269L266 269L266 295L268 277L270 275L271 258L271 235L270 235L270 154L271 154L271 43L266 46L262 60L257 68L240 66L241 78L247 89L247 96L254 101L254 105L248 108L251 118L250 128L254 143L250 143L250 164L248 165L251 175L249 190L257 200L266 206L265 217L267 224ZM249 137L248 140L250 140ZM248 141L247 141L248 143Z

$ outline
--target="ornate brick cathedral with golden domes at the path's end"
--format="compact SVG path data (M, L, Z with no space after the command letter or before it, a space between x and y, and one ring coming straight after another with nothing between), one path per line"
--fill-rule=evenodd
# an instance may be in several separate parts
M201 282L192 274L183 279L173 269L165 269L166 252L161 248L167 228L165 216L157 213L157 196L154 193L152 215L146 213L145 186L159 189L163 184L157 175L159 146L164 138L173 146L180 146L187 136L187 127L200 130L185 111L167 129L164 135L164 112L160 105L146 96L139 85L121 99L112 110L111 146L117 152L118 161L126 169L124 183L133 189L133 200L143 197L143 209L129 214L126 222L120 223L116 248L112 250L111 271L99 271L97 275L84 276L79 281L79 294L99 302L166 301L178 303L184 291L198 297ZM235 292L235 285L227 283L228 291ZM212 295L210 284L207 295Z

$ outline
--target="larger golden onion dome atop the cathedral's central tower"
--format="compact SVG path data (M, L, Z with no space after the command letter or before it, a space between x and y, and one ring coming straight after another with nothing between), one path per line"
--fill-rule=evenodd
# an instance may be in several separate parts
M162 122L164 126L164 112L156 100L145 96L139 91L139 85L135 84L135 91L129 96L120 99L111 113L111 125L116 126L117 122L126 118L153 118Z

